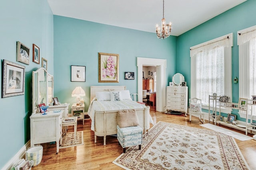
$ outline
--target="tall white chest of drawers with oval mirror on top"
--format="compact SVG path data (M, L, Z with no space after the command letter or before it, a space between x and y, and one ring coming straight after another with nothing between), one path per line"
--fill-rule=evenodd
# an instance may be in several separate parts
M188 113L188 87L180 73L172 76L172 86L166 87L166 112L172 114Z

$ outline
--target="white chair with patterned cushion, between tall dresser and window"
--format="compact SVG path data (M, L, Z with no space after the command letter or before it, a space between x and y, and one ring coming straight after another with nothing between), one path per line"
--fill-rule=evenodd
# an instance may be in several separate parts
M204 122L204 113L202 113L202 100L198 98L189 99L189 121L193 116L198 116L201 122ZM203 118L203 121L202 121Z

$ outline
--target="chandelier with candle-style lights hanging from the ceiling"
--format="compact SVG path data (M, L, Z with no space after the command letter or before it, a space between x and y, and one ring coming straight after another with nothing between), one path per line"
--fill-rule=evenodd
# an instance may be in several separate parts
M164 0L163 0L163 18L161 20L161 27L156 24L156 35L158 38L167 38L170 36L172 30L172 23L166 24L166 20L164 18Z

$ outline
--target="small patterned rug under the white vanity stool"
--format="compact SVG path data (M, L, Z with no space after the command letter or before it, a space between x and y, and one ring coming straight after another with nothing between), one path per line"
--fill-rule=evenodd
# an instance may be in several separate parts
M62 148L75 147L78 145L84 145L83 131L76 132L76 140L74 140L74 132L68 132L64 137L62 137Z

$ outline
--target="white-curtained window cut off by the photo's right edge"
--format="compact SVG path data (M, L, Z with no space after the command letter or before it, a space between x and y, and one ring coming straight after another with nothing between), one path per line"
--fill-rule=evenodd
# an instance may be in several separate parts
M237 32L239 45L239 98L251 99L256 94L256 26ZM256 116L256 107L252 115ZM239 111L240 117L246 118L245 111ZM254 118L255 119L255 118Z

